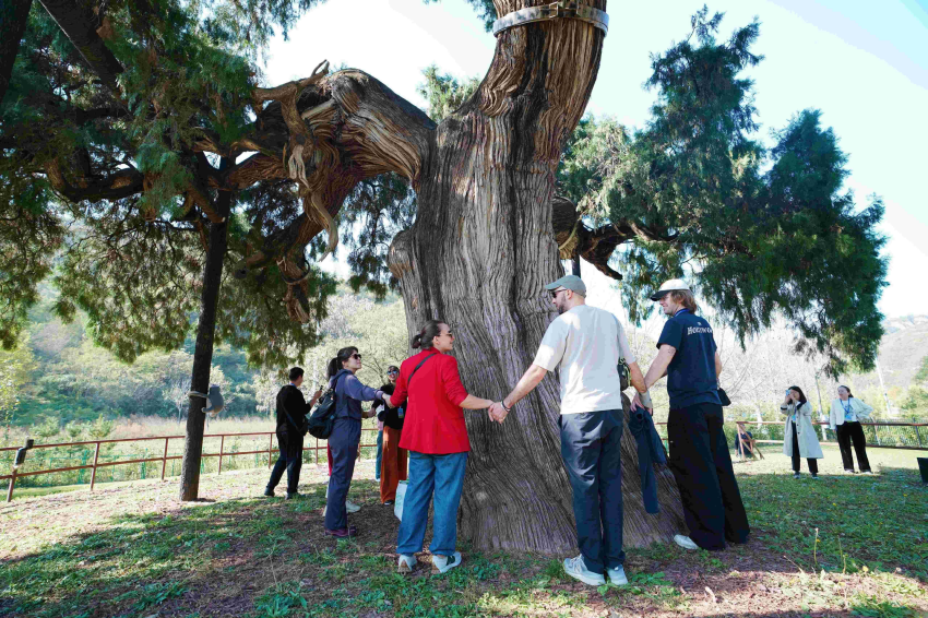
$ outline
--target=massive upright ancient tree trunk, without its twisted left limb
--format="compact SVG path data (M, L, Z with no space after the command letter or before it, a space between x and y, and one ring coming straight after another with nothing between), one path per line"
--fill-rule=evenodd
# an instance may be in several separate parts
M499 14L522 7L497 2ZM478 396L500 400L515 384L556 317L543 289L563 274L551 230L555 170L588 100L603 37L576 20L503 32L475 97L439 126L416 224L393 242L409 331L430 318L453 324L462 377ZM473 451L460 524L478 547L575 549L556 379L502 426L467 415ZM662 514L647 515L628 430L623 455L627 545L681 532L670 475L659 475Z

